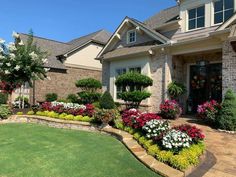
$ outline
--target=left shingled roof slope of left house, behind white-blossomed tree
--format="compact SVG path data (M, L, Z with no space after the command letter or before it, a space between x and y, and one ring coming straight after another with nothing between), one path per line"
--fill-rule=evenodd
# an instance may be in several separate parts
M21 40L26 43L29 35L20 33ZM65 69L65 66L57 59L57 55L68 50L70 45L50 39L34 36L33 41L40 49L48 54L48 64L45 67Z

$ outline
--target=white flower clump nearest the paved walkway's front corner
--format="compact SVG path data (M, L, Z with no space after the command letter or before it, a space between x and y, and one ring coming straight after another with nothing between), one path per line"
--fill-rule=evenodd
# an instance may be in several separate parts
M163 147L168 150L173 150L174 152L179 152L182 148L190 147L191 143L192 138L190 138L186 133L175 129L167 132L162 139Z

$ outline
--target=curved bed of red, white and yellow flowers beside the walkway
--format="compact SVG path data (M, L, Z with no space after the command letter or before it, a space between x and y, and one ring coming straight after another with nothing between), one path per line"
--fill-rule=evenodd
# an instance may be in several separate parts
M133 134L150 155L178 170L199 163L205 150L205 136L200 129L187 124L171 128L169 122L159 116L144 119L144 124L137 123L137 119L145 114L135 109L126 110L116 127Z

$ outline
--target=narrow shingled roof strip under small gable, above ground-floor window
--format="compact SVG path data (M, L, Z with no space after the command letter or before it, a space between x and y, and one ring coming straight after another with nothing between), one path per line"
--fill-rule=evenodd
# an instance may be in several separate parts
M116 50L113 50L104 54L103 59L110 59L110 58L116 58L116 57L122 57L122 56L147 52L154 46L155 45L118 48Z

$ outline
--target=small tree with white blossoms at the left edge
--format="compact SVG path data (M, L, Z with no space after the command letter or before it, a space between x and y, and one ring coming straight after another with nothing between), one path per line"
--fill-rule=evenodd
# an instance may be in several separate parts
M44 67L47 54L33 43L33 32L30 32L26 44L21 41L19 34L13 32L12 36L15 43L6 44L0 39L0 86L10 96L25 83L32 87L33 80L44 79L48 71Z

